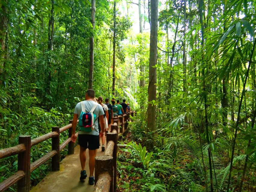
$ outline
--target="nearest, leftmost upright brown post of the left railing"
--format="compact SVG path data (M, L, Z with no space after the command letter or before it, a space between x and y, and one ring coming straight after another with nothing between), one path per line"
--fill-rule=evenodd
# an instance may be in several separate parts
M18 192L29 192L31 136L20 135L19 144L24 144L26 151L18 155L18 171L24 171L25 173L25 176L18 181Z

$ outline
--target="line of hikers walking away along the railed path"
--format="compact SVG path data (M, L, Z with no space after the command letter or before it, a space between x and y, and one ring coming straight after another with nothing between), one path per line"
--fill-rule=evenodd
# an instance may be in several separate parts
M113 117L115 115L125 114L131 111L129 103L120 104L120 101L111 100L112 105L109 103L109 99L105 99L103 104L103 98L95 98L95 91L88 89L85 94L85 101L79 102L74 110L74 117L72 122L72 136L71 141L76 142L77 136L75 135L77 119L79 119L79 131L78 131L78 144L80 145L80 181L86 179L87 174L85 170L86 162L86 149L89 150L89 184L94 184L94 167L95 157L97 149L100 148L100 138L102 139L101 151L105 150L105 134L113 124Z

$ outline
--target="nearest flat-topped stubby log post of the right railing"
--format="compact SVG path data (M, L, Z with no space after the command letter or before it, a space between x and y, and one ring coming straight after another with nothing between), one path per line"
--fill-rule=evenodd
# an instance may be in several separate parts
M98 181L99 175L101 173L104 173L107 171L107 173L110 175L111 181L110 181L110 192L113 192L113 157L107 156L107 155L101 155L95 157L95 185Z

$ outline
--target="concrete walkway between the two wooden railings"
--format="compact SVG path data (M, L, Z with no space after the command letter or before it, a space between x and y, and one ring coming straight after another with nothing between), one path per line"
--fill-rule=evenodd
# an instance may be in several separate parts
M101 141L100 141L101 143ZM106 147L106 142L105 142ZM86 173L87 177L84 182L80 182L80 159L79 159L80 147L75 147L74 155L66 156L60 163L60 170L50 172L45 178L33 187L31 192L89 192L94 190L94 185L89 185L89 153L86 150ZM100 149L97 150L97 156L104 155Z

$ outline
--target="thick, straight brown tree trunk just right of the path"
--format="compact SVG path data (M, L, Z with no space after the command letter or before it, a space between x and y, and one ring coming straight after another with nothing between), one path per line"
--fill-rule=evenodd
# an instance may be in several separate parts
M156 106L152 101L156 101L156 67L157 63L157 31L158 31L158 0L152 0L150 3L150 47L149 47L149 87L148 87L148 112L147 125L149 131L155 131ZM154 138L154 137L153 137ZM148 149L152 150L153 143L148 144Z

